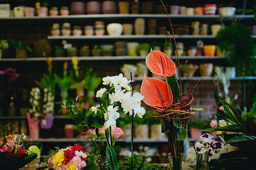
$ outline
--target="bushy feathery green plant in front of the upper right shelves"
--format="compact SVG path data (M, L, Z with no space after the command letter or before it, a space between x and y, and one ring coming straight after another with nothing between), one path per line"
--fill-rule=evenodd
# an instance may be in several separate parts
M216 35L218 48L227 55L228 63L236 67L238 76L256 75L256 44L249 26L233 23Z

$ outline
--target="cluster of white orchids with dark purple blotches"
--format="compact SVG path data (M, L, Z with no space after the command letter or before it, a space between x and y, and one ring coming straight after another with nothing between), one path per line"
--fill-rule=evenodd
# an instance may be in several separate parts
M219 159L220 152L226 150L225 140L220 135L211 136L204 133L195 141L195 151L199 154L207 152L210 159Z

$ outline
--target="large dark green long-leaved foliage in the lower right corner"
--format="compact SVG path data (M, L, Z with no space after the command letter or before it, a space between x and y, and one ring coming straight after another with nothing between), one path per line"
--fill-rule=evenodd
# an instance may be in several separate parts
M255 169L255 144L256 144L256 102L249 112L239 113L238 110L224 100L220 100L222 106L216 113L219 120L225 120L229 125L203 129L202 131L220 131L225 139L225 145L238 147L239 150L221 153L219 159L209 162L209 166L226 169ZM228 133L236 132L236 133Z

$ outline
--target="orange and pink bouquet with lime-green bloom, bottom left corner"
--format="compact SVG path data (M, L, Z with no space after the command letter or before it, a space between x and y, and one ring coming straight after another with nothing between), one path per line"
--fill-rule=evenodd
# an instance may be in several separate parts
M0 165L5 170L18 170L40 158L42 143L25 142L25 134L10 134L0 141Z

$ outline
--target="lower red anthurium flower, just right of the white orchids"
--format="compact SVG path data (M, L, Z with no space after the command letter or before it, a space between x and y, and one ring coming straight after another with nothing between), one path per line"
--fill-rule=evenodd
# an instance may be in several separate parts
M170 98L168 97L170 92ZM141 84L141 95L144 96L143 101L148 106L168 107L173 103L173 94L171 88L166 82L160 79L144 77Z

